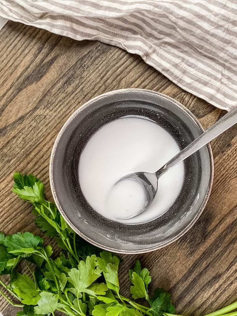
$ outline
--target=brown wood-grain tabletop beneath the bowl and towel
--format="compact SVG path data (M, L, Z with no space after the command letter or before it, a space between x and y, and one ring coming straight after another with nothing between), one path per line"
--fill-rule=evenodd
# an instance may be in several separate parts
M185 92L143 60L100 42L76 42L41 29L8 22L0 31L0 230L35 227L31 207L11 193L15 171L46 184L51 149L66 119L84 102L113 89L145 88L167 94L191 110L204 128L224 111ZM212 142L215 178L198 222L173 244L144 255L124 255L128 268L140 258L153 276L151 289L171 290L183 315L208 313L237 299L237 125ZM47 242L47 240L46 240ZM0 299L4 316L17 309Z

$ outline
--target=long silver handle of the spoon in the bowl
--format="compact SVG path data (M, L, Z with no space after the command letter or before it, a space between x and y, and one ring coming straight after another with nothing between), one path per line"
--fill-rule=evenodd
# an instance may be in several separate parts
M197 150L205 146L212 139L228 130L231 126L237 123L237 106L234 107L230 112L219 119L214 125L209 127L203 134L197 137L192 143L181 150L175 155L170 161L168 161L163 167L156 171L156 176L160 177L163 173L173 168L180 162L184 161L190 155L195 153Z

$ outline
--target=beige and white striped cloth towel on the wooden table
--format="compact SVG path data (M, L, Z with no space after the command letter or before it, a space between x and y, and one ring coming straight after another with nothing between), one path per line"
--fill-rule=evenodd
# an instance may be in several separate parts
M0 0L0 15L119 46L219 108L237 104L236 0Z

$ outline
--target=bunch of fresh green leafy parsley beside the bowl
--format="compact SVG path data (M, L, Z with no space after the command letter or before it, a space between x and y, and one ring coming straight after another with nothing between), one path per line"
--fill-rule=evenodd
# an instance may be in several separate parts
M0 232L0 276L10 276L8 285L0 279L9 295L1 290L0 295L22 307L16 316L55 316L57 311L68 316L177 316L168 292L157 288L149 296L151 276L139 260L129 270L132 299L122 296L120 258L77 236L56 205L46 200L45 187L35 176L15 173L14 181L13 192L33 205L36 225L62 248L55 258L52 246L45 246L39 236ZM33 263L34 269L28 266L29 275L18 272L22 260ZM146 306L137 299L145 299ZM237 302L206 316L237 316L237 312L229 313L236 308Z

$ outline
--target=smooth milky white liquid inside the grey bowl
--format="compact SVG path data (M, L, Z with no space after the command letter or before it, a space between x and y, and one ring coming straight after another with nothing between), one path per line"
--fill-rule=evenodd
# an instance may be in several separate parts
M114 184L125 174L155 172L180 151L174 138L161 126L139 117L126 117L104 125L89 139L79 161L79 182L88 203L102 216L136 224L165 213L182 189L184 163L173 167L158 182L158 192L149 208L137 217L145 203L142 187L134 180Z

